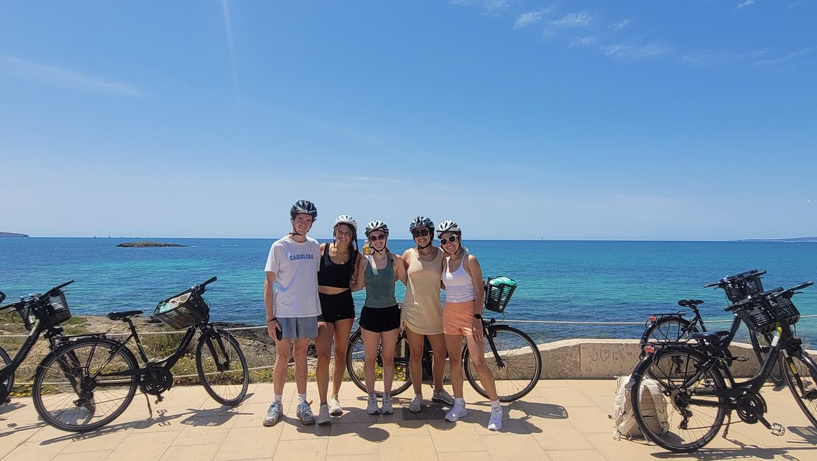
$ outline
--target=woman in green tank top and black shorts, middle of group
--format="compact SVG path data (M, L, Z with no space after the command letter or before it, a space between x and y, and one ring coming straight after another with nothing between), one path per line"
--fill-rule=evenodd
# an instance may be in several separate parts
M403 260L386 247L389 227L385 222L369 222L366 238L373 252L360 258L357 273L363 276L359 276L352 286L352 291L366 289L366 302L360 310L360 332L366 354L366 413L392 414L395 410L391 405L391 380L395 374L395 346L400 333L400 307L395 299L395 282L400 280L406 283L406 270ZM374 393L374 366L377 349L381 346L384 392L382 405L378 408Z

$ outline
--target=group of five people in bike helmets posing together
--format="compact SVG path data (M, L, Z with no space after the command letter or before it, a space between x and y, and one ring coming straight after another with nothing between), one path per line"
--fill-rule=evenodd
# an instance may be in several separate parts
M264 302L267 332L275 338L275 397L264 418L272 426L283 418L283 386L287 380L290 354L294 354L298 393L297 418L304 424L332 422L343 414L337 395L346 372L346 348L355 321L352 292L365 289L366 301L359 325L364 342L364 378L368 392L368 414L392 414L391 381L394 376L395 346L400 328L406 333L408 365L414 397L408 410L422 410L422 348L428 338L433 351L434 392L432 401L451 406L445 418L451 422L467 415L462 397L462 340L471 352L472 365L491 400L488 428L502 428L502 407L493 375L483 360L481 313L484 301L480 262L462 246L462 231L456 222L439 226L427 217L417 217L408 226L415 246L402 256L388 248L389 228L372 221L365 227L370 252L360 253L357 222L349 215L337 217L333 241L319 244L307 235L318 217L315 204L299 200L290 209L292 232L272 244L266 262ZM435 247L435 232L440 247ZM402 307L395 298L395 283L406 287ZM445 290L445 304L440 300ZM314 338L318 363L315 378L320 407L318 417L306 401L306 351ZM334 354L333 354L334 342ZM380 405L374 392L377 351L381 350L383 387ZM443 388L446 351L449 356L453 397ZM334 356L332 394L329 363ZM281 366L278 366L281 365Z

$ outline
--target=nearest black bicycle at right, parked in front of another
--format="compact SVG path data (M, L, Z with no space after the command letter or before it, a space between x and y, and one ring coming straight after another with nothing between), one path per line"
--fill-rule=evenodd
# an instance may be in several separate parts
M666 450L699 450L712 441L724 419L729 418L726 436L733 411L745 423L761 423L772 434L784 435L785 427L764 418L766 401L760 393L772 367L780 360L792 396L817 427L817 365L792 332L800 313L791 298L811 284L757 293L724 308L739 317L735 324L742 320L753 331L772 334L760 372L746 381L734 379L725 359L734 331L691 333L688 343L663 342L646 347L647 355L633 371L631 383L633 414L646 438ZM645 383L647 379L654 381ZM654 383L661 388L666 407L642 413L641 394L649 392L647 387ZM654 431L645 419L654 418L656 411L666 412L667 423Z

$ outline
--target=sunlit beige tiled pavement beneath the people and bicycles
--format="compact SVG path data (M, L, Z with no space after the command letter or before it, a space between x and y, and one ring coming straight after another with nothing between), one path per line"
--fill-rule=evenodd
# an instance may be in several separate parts
M425 387L426 397L431 389ZM301 426L295 418L295 386L288 383L283 422L262 427L272 386L253 384L248 399L234 408L212 401L201 387L176 387L149 416L145 397L114 423L97 432L61 432L38 421L30 399L0 407L0 459L553 459L570 461L619 459L817 459L817 432L809 427L788 389L764 389L770 421L787 427L772 436L761 424L734 424L729 439L721 436L692 455L670 454L643 441L614 441L613 380L548 380L524 401L503 404L501 432L484 424L489 404L466 385L467 418L458 423L406 421L395 399L395 414L369 416L365 401L345 383L341 403L346 413L328 426ZM315 383L309 385L316 397ZM152 403L152 402L151 402ZM428 403L428 402L426 402ZM312 404L317 413L317 401Z

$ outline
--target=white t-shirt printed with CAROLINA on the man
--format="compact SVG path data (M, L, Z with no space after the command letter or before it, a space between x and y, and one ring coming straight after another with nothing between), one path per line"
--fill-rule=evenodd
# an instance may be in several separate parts
M282 318L320 315L318 269L320 244L309 236L300 243L276 240L266 258L267 272L275 272L275 316Z

